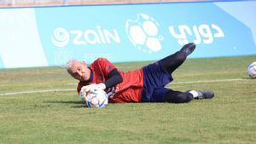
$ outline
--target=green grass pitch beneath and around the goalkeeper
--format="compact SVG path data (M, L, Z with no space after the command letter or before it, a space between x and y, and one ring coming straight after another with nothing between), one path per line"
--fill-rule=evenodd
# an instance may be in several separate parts
M168 87L212 89L212 100L186 104L83 106L63 67L0 70L0 143L256 143L256 55L190 59ZM129 71L149 62L122 63ZM35 92L38 91L38 92Z

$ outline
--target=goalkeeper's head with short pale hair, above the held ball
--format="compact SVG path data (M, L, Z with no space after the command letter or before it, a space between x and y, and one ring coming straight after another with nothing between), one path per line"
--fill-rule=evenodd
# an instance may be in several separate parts
M73 65L68 69L69 74L79 81L88 81L90 78L90 69L84 61L74 61Z

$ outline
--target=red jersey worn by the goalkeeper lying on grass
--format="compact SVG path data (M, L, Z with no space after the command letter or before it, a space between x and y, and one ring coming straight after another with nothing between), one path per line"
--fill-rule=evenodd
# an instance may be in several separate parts
M78 92L85 85L100 84L107 80L108 73L116 67L104 58L95 60L89 66L92 75L91 82L79 82ZM105 89L110 102L141 102L143 93L143 69L137 69L130 72L121 72L118 70L123 78L123 82L114 85L111 88Z

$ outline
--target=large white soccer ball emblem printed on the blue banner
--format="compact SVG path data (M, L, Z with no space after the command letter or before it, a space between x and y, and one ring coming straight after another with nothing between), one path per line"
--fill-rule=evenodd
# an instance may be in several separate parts
M137 14L137 20L126 20L125 31L131 43L144 53L158 52L162 49L159 23L148 14Z

